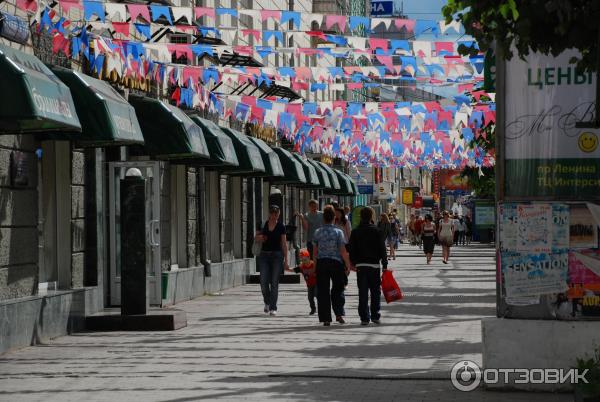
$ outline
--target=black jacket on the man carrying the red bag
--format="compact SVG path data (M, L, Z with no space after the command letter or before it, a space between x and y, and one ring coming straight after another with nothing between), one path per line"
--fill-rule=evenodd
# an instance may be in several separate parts
M387 268L385 238L375 225L361 223L350 235L350 261L357 264L379 264Z

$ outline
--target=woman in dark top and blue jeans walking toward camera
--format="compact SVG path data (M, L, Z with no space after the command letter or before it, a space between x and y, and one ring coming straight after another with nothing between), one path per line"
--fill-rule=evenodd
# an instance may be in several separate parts
M256 240L262 243L258 256L260 268L260 289L265 303L264 312L277 315L277 298L279 296L279 275L289 269L288 246L285 226L279 222L279 207L269 207L269 219L262 230L257 233Z

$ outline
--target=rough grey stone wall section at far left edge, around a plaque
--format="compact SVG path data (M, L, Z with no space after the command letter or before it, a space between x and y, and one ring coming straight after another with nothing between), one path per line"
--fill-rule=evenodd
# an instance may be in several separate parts
M0 300L34 295L38 285L38 143L32 135L0 136ZM27 183L11 184L11 154L22 152Z

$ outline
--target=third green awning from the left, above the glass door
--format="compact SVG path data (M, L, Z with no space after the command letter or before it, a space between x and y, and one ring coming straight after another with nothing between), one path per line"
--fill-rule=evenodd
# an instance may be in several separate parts
M202 129L181 109L157 99L131 96L142 134L144 151L158 159L209 159Z

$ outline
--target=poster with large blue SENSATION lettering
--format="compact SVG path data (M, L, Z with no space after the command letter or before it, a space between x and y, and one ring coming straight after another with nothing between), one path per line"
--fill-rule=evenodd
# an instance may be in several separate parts
M502 274L508 298L561 293L568 289L569 252L502 253Z

